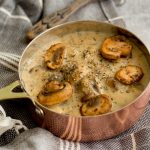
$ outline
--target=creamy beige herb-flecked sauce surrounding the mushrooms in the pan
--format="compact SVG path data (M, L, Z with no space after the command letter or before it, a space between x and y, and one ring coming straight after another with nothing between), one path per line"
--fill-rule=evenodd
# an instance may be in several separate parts
M112 35L110 33L104 34L92 31L73 32L62 35L56 39L54 38L53 41L50 41L49 47L52 44L63 43L66 46L63 66L72 63L84 65L82 71L85 71L85 74L88 74L89 79L93 77L95 78L95 81L100 88L100 92L111 97L111 111L116 111L129 104L141 94L149 82L150 68L143 53L131 41L129 42L133 46L132 58L120 58L117 62L109 62L102 58L99 51L101 44L106 37ZM42 86L49 78L52 78L53 74L55 74L55 77L53 78L62 79L62 74L59 70L51 71L47 69L44 63L43 55L47 48L37 51L37 53L35 53L30 61L24 66L22 73L25 89L35 100L37 99L37 95ZM119 70L120 67L126 65L140 66L143 69L144 77L141 81L133 85L123 85L119 83L119 81L116 81L118 90L112 90L106 85L106 78L114 77L116 71ZM49 109L58 113L80 116L79 109L82 105L80 102L82 96L82 90L76 85L74 87L74 93L69 100L62 104L53 105L49 107Z

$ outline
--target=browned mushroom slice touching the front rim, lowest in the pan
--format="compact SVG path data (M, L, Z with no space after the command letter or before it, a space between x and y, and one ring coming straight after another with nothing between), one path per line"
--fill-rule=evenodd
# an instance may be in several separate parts
M101 94L84 103L80 108L80 112L83 116L95 116L110 112L111 107L112 103L109 97Z

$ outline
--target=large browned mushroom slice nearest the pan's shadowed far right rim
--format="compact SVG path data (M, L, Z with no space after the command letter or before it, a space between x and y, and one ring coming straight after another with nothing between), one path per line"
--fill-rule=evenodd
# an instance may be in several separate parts
M116 60L121 56L131 54L132 45L127 42L124 36L117 35L106 38L102 44L101 55L108 60Z

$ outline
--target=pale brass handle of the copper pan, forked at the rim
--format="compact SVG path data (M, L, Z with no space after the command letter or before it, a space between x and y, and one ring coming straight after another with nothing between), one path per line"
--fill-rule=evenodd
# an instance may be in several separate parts
M16 98L29 98L27 93L22 90L19 80L0 89L0 101Z

